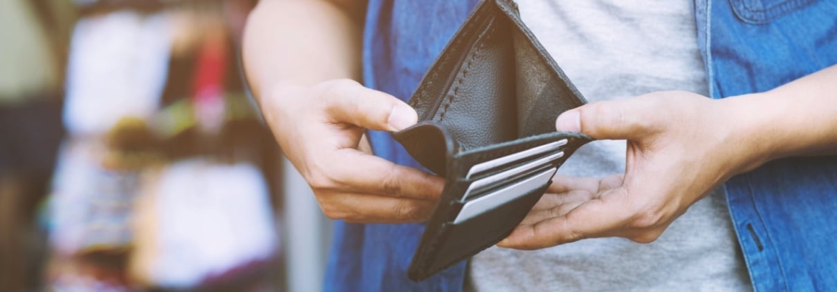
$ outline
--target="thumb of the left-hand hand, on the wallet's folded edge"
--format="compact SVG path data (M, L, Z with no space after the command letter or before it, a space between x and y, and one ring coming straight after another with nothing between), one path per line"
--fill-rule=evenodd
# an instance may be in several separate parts
M337 80L321 86L326 87L323 98L331 122L398 131L419 120L416 111L407 103L352 80Z

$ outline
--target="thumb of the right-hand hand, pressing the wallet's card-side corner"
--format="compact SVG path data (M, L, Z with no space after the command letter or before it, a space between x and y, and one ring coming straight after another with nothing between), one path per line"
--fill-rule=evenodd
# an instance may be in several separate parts
M651 133L654 116L640 98L588 103L570 109L555 120L561 132L583 133L597 139L643 138Z

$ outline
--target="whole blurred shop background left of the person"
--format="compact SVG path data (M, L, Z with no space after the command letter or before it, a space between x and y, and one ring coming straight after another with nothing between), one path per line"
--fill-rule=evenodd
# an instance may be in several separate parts
M242 82L255 3L0 0L0 291L320 289L330 223Z

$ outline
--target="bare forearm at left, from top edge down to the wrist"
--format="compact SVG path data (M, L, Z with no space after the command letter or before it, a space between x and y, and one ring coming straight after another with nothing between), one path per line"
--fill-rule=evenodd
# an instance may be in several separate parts
M250 14L244 69L256 98L276 83L360 79L361 23L327 1L269 1Z

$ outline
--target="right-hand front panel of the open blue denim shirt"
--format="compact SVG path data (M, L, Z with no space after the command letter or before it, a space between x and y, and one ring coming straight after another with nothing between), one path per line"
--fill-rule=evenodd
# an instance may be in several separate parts
M712 98L837 63L837 1L702 0L696 16ZM724 186L757 290L837 289L837 156L773 161Z

